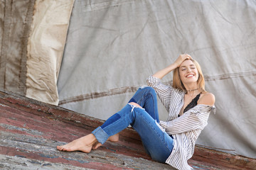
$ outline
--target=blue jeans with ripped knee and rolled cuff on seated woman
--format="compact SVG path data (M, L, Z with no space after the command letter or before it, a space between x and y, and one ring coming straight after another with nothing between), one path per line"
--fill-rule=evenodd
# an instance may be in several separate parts
M139 108L129 104L134 102ZM108 118L105 123L92 131L100 143L132 125L139 133L146 152L157 162L165 163L174 147L173 139L159 126L156 92L153 88L141 87L121 111Z

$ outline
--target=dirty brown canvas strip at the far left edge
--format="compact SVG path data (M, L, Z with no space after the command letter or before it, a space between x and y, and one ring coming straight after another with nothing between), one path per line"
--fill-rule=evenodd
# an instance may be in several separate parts
M26 49L34 1L0 2L0 89L26 94Z

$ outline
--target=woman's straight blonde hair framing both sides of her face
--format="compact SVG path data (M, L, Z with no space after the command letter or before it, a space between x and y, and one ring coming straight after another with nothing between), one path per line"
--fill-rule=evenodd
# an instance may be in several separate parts
M203 72L202 69L200 67L200 65L198 64L198 62L196 62L196 60L191 59L191 61L193 62L193 64L195 64L196 69L198 70L198 80L197 80L197 84L199 86L199 89L203 92L206 91L205 89L205 80L203 78ZM179 77L179 67L177 67L176 69L174 69L174 76L173 76L173 84L172 86L175 89L180 89L182 91L186 91L185 86L183 85L181 78Z

